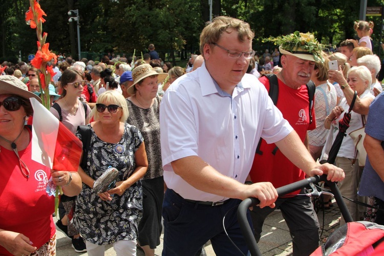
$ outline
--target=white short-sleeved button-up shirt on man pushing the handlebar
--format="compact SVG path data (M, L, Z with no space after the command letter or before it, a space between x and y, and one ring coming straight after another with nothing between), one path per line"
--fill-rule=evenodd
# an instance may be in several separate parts
M245 74L229 95L203 63L173 82L160 103L164 181L185 199L226 200L189 185L174 173L170 163L199 156L221 174L244 183L260 137L274 143L292 130L253 75Z

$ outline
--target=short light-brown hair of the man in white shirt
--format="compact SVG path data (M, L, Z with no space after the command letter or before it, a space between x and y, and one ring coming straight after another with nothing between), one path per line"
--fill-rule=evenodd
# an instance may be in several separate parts
M207 23L207 26L200 34L200 53L204 56L204 45L212 44L212 42L219 41L223 32L228 30L236 30L239 33L239 40L244 41L244 37L247 39L253 39L254 33L252 32L249 24L243 22L237 18L231 18L226 16L218 16L212 20L211 23Z

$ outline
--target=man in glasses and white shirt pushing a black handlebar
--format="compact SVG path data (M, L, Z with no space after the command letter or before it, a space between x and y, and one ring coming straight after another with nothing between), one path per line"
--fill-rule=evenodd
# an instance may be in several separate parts
M195 255L208 240L217 255L239 254L222 227L226 213L229 237L248 253L230 209L248 197L274 207L277 198L269 182L244 184L260 137L312 175L344 176L335 166L316 166L264 86L245 74L253 36L247 23L216 17L200 35L203 65L172 83L161 101L163 255Z

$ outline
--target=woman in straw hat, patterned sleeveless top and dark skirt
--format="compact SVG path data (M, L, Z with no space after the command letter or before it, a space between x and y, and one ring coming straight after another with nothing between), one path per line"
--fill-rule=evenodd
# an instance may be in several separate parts
M143 199L143 218L139 224L138 237L138 244L146 256L155 255L162 229L164 179L160 148L161 97L157 95L158 76L159 73L148 64L136 67L132 72L134 83L127 90L132 96L126 100L130 111L126 121L140 130L146 142L145 151L148 156L148 171L142 180L146 197Z

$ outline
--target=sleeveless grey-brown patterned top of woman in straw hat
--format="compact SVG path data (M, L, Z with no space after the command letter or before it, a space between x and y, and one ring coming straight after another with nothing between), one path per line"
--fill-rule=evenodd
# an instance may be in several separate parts
M160 117L159 107L161 97L156 96L154 104L149 109L139 108L130 100L126 100L130 113L127 123L135 125L140 130L145 141L145 152L148 158L148 169L143 180L163 176L160 147Z

